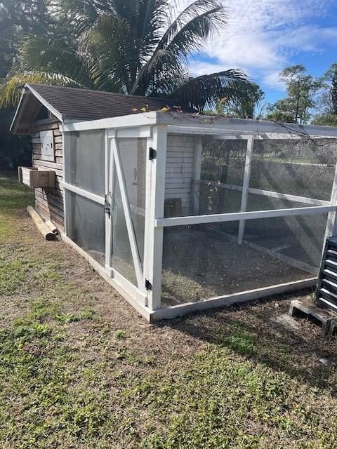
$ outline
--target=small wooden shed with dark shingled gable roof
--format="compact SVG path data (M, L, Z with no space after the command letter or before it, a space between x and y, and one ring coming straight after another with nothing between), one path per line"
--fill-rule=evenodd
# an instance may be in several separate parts
M44 219L51 220L60 232L64 231L63 144L60 125L131 116L144 110L157 111L166 106L170 109L181 107L185 111L193 112L192 108L183 106L176 100L26 84L11 124L11 133L31 136L32 167L55 172L53 187L34 189L37 212ZM132 117L129 120L132 125ZM176 192L174 189L174 194Z

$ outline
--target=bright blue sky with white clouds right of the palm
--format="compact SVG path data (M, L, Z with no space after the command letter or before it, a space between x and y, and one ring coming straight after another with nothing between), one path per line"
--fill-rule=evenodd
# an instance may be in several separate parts
M179 9L191 0L178 1ZM191 61L194 75L240 68L265 91L284 97L279 72L302 64L322 76L337 62L337 0L223 0L227 27Z

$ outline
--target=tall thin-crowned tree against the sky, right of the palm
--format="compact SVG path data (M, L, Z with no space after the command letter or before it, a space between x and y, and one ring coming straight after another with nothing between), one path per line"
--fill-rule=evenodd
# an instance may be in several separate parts
M308 123L310 111L316 105L316 97L323 87L322 79L309 75L303 65L286 67L279 77L286 84L286 98L270 105L268 120L289 123Z

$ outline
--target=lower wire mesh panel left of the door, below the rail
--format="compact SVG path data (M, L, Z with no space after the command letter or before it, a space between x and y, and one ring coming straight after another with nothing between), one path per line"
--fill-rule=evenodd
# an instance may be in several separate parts
M104 206L66 191L67 236L91 257L105 264Z

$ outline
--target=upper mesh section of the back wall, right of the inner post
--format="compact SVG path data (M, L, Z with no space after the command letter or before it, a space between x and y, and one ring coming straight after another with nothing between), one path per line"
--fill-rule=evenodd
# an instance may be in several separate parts
M329 201L335 166L331 140L255 140L249 187Z

